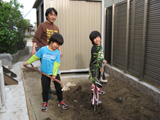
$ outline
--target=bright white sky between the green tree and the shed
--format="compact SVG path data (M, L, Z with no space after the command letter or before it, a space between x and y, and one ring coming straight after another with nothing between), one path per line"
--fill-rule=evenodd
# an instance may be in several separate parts
M9 2L10 0L3 1ZM18 2L23 5L23 9L20 9L20 11L24 19L29 19L30 23L35 26L34 23L36 22L36 9L32 8L35 0L18 0Z

